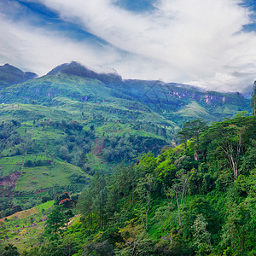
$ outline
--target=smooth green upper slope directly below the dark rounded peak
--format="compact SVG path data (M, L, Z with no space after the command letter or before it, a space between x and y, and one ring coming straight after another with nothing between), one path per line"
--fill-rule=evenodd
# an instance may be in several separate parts
M109 89L98 80L62 73L13 85L0 94L4 103L30 103L36 100L47 105L52 105L56 96L79 102L95 102L99 98L110 96Z

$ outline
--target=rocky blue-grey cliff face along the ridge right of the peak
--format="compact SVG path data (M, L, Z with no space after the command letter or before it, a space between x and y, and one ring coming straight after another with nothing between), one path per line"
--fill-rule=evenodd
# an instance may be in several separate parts
M172 107L177 110L188 102L195 101L204 108L224 108L235 105L237 111L248 108L247 99L240 93L220 93L217 91L202 91L186 84L163 83L160 81L124 80L122 92L139 98L142 102L155 107ZM126 91L126 92L125 92Z

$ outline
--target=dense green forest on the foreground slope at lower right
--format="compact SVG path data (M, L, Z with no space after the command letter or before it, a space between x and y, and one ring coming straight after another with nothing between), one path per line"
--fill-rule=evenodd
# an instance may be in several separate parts
M157 157L96 172L79 196L55 197L21 255L254 255L256 116L195 119L179 137ZM11 244L2 254L19 255Z

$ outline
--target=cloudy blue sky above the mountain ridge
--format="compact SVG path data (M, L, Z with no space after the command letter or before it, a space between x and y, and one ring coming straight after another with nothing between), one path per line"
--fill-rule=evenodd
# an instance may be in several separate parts
M249 93L255 0L0 0L0 65L39 76L70 61L123 79Z

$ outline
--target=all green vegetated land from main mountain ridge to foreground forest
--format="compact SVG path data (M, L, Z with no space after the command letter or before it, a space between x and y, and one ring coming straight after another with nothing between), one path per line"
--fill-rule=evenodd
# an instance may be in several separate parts
M1 255L255 253L244 97L63 67L0 87Z

